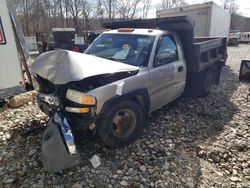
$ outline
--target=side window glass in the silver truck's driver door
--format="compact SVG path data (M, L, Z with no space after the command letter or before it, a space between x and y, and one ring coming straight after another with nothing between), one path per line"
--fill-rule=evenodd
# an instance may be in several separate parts
M172 36L166 35L160 39L154 66L165 65L179 60L177 46Z

